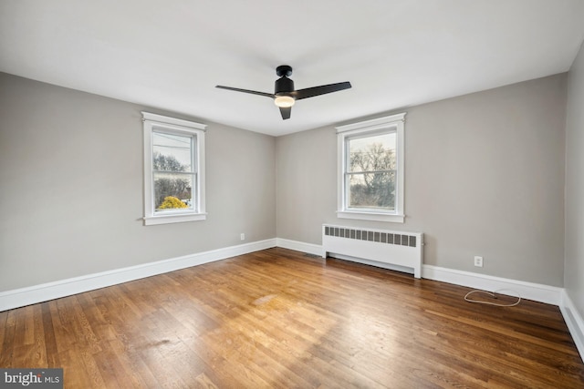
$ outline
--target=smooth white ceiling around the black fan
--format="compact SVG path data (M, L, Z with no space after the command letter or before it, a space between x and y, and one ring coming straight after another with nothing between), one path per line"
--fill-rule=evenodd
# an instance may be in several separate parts
M582 0L0 0L0 71L283 135L569 69ZM298 101L266 97L278 65Z

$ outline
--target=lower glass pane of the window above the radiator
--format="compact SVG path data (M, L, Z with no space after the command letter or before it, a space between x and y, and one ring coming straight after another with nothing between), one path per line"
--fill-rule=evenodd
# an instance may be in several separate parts
M349 208L395 210L395 170L349 174Z

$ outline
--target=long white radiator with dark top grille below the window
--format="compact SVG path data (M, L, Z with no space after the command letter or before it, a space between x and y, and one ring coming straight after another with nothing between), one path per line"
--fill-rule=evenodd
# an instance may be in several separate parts
M423 234L322 225L323 258L328 252L413 270L422 277Z

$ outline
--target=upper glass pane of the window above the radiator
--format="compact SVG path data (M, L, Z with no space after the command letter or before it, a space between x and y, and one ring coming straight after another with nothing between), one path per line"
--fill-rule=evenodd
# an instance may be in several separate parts
M396 169L395 131L365 138L348 139L348 171Z

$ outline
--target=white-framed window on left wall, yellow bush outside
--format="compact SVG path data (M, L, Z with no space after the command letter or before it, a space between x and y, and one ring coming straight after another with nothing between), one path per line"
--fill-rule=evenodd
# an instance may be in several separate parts
M206 126L148 112L142 117L144 224L205 220Z

